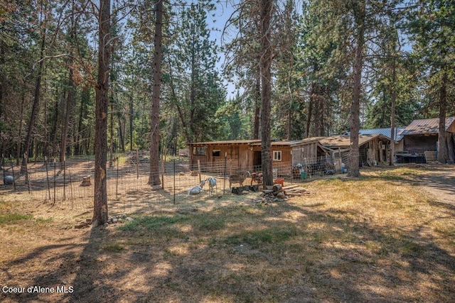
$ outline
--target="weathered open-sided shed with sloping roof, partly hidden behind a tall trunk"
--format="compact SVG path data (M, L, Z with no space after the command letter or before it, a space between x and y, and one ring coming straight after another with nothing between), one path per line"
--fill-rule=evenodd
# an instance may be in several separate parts
M342 162L348 165L350 136L326 137L321 138L320 142L326 148L334 150L333 158L341 158ZM387 146L390 146L390 138L381 134L359 135L359 165L375 165L375 162L386 162L389 156Z

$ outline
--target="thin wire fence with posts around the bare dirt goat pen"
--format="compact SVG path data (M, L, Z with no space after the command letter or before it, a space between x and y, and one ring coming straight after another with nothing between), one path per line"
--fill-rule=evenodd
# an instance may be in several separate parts
M15 159L2 161L4 184L7 193L28 193L31 199L45 200L53 205L70 209L85 209L93 206L94 156L71 157L63 162L58 159L34 159L21 165ZM154 203L181 203L205 199L213 195L230 194L232 187L254 186L262 183L261 167L239 170L235 163L225 159L216 163L190 165L188 158L164 156L159 161L159 170L150 174L149 156L146 153L116 155L107 162L107 197L119 211L132 211L134 204L153 207ZM274 162L274 182L305 182L313 177L333 175L336 167L331 159L319 157L306 159L303 164ZM11 176L9 179L7 176ZM149 178L159 179L159 191L152 190ZM204 184L201 194L188 194L209 177L216 179L210 192ZM12 182L11 182L12 180ZM158 189L157 188L157 189ZM252 187L258 189L258 187ZM196 188L197 190L197 188ZM145 203L145 204L144 204Z

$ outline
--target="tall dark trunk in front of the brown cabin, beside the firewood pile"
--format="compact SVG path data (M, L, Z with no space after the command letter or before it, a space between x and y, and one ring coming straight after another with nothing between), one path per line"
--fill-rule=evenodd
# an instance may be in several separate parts
M272 175L272 143L270 128L270 99L272 97L272 43L270 21L272 15L272 0L260 1L261 22L261 84L262 84L262 113L261 113L261 141L262 141L262 175L264 185L273 184Z

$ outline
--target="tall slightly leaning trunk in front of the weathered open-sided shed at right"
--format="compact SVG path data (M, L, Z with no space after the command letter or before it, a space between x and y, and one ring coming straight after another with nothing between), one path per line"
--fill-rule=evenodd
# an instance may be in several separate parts
M357 35L355 46L355 58L353 67L353 101L350 107L350 161L349 176L360 177L359 170L359 150L358 150L358 132L359 132L359 115L360 115L360 97L362 89L362 69L363 69L363 46L365 44L365 2L361 1L358 7L355 7Z

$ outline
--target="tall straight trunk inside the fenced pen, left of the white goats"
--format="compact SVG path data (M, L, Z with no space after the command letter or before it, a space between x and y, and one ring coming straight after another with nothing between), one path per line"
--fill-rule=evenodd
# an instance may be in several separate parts
M163 57L161 41L163 38L163 1L155 3L155 36L154 36L154 89L151 104L151 140L150 140L150 175L149 184L161 184L159 179L159 103L161 99L161 61Z

